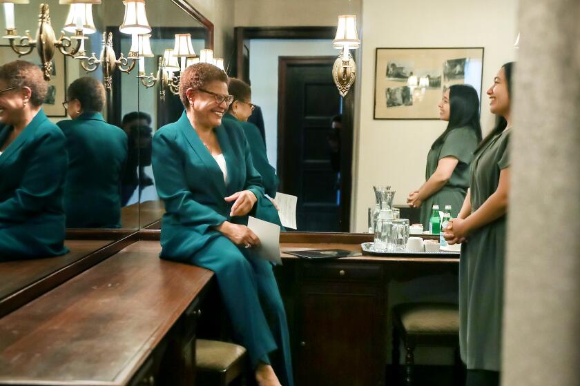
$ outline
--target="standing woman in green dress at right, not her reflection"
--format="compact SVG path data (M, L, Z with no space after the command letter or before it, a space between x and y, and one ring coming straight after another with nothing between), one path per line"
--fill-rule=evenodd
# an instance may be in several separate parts
M487 90L499 122L476 149L470 190L445 232L450 244L465 241L459 263L459 343L467 386L499 384L513 68L513 63L503 65Z

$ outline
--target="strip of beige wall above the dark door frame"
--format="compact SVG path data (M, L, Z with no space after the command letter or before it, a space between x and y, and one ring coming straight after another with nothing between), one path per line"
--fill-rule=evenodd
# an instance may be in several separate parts
M235 0L235 26L336 26L363 0Z

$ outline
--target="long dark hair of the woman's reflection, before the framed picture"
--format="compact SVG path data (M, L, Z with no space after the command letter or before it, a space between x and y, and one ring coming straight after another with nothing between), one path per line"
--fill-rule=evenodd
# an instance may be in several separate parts
M470 85L452 85L449 88L450 116L447 128L438 136L431 148L445 141L445 137L452 130L469 126L481 141L481 124L479 123L479 98L477 92Z

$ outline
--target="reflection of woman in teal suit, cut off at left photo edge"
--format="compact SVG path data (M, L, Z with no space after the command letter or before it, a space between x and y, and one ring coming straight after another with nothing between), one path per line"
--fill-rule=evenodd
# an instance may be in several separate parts
M0 261L66 254L66 139L44 114L37 65L0 67Z

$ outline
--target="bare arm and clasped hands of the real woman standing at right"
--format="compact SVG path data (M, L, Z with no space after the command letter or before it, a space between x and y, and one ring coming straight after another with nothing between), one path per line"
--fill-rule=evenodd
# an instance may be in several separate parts
M447 227L449 236L446 233L445 238L452 243L461 243L470 233L504 216L508 212L509 190L510 168L506 167L499 173L496 191L470 216L452 219L450 227Z

